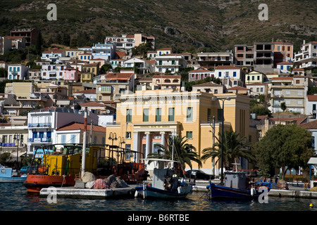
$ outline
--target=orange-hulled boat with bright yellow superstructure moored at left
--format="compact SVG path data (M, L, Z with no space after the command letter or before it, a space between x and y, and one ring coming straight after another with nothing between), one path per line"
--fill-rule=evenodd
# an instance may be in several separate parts
M45 146L45 148L48 147ZM86 172L97 171L97 150L99 150L98 146L86 148ZM80 174L81 169L82 148L64 146L59 153L56 152L56 149L51 153L47 149L44 152L46 153L43 155L43 159L33 158L30 167L32 171L28 171L27 179L23 183L27 192L39 193L42 188L50 186L75 186L76 175ZM35 155L37 155L36 151Z

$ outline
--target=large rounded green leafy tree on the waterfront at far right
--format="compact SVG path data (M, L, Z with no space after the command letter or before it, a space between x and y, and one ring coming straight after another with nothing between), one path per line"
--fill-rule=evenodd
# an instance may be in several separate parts
M311 140L311 133L297 124L278 124L254 145L257 165L264 172L282 168L283 179L288 169L307 167L313 156Z

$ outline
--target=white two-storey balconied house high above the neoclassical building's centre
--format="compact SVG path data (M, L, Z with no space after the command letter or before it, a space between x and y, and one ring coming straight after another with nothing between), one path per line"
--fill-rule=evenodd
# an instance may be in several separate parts
M180 68L186 68L187 62L182 54L167 54L164 56L156 56L155 72L170 71L174 74L180 71Z

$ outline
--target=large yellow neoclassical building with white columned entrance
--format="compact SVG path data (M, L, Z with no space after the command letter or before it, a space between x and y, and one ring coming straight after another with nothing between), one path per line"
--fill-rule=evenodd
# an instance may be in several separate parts
M230 100L225 100L228 97ZM107 143L111 144L112 140L108 140L111 133L118 138L114 145L120 146L119 141L124 138L125 148L143 153L133 155L133 160L139 162L157 150L156 143L166 144L170 135L177 134L186 136L187 143L201 155L204 148L213 145L213 127L216 136L221 131L223 100L224 129L249 137L249 96L160 89L120 96L116 123L106 128ZM216 119L214 126L213 117ZM198 165L194 163L193 167L198 168ZM218 165L213 168L211 159L200 169L218 174Z

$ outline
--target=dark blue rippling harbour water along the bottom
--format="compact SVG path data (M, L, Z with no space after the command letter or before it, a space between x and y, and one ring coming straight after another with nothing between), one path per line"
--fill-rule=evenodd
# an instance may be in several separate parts
M1 211L317 211L316 199L273 198L268 203L251 201L209 200L206 193L194 192L184 200L143 200L123 198L86 200L57 198L49 203L38 194L27 193L23 184L0 184ZM314 207L309 207L313 204Z

